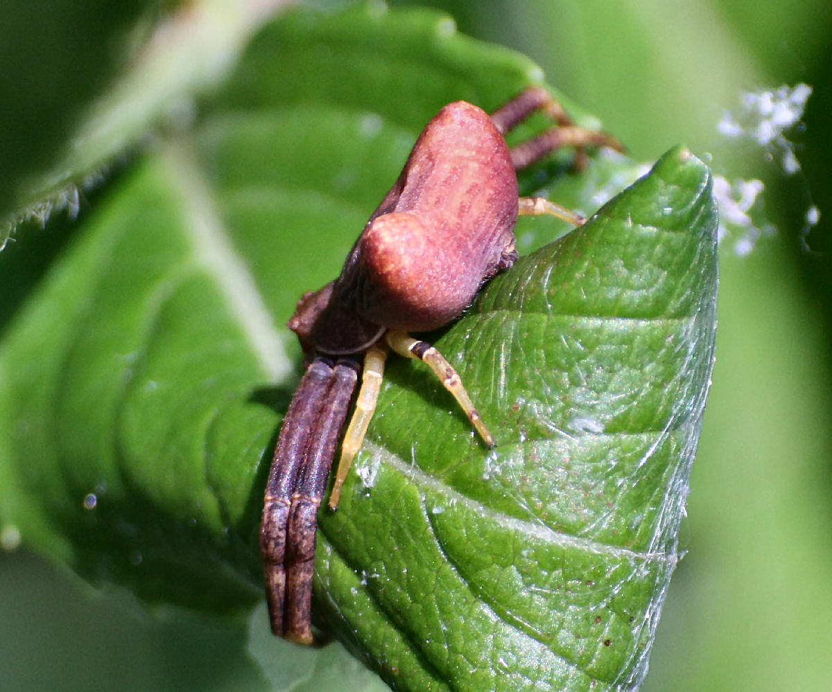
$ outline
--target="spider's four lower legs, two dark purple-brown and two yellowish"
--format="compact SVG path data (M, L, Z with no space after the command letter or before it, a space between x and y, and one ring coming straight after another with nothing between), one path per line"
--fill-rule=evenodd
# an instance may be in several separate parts
M333 510L373 417L388 347L427 363L463 407L483 440L489 446L494 443L458 373L442 354L402 331L390 330L364 354L362 384L344 435L338 476L329 495L329 507ZM314 358L286 412L266 483L260 551L271 630L299 644L312 642L310 610L317 513L358 370L359 363L354 358L341 358L334 364L326 358Z

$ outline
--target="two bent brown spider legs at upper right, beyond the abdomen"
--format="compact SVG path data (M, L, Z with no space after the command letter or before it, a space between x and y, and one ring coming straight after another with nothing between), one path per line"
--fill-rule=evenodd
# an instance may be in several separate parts
M543 87L530 87L522 91L512 101L508 101L505 106L494 111L491 114L491 120L497 129L506 135L535 111L546 113L557 122L557 127L512 148L511 156L515 171L522 170L564 145L572 145L577 149L575 165L578 169L587 164L584 146L609 146L617 151L623 151L621 142L615 137L576 126L566 109Z

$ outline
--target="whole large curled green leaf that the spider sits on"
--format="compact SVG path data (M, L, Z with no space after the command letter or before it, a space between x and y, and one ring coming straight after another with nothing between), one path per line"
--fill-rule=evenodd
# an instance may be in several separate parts
M300 367L280 322L337 274L438 107L491 109L540 77L433 12L266 27L6 325L2 526L152 601L259 602L262 490ZM523 190L590 211L632 169L562 164ZM671 151L432 335L496 452L420 363L390 363L357 472L321 515L315 604L385 679L578 690L643 675L710 378L715 229L706 166ZM518 246L563 230L524 219Z

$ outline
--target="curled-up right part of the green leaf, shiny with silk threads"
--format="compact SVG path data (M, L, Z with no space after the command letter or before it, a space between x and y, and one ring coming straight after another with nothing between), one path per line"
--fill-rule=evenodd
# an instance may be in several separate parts
M322 518L319 588L362 645L383 658L403 636L426 676L471 690L639 680L676 564L715 298L710 175L676 149L438 339L497 452L426 373L393 363L402 386Z

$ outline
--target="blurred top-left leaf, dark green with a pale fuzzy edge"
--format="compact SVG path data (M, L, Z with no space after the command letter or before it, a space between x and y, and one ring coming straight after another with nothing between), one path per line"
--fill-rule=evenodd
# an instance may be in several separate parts
M0 115L7 132L0 142L0 178L7 182L0 190L0 250L25 220L44 224L63 209L76 215L87 192L148 130L189 120L194 97L228 76L251 34L287 3L171 3L161 21L158 3L138 0L13 2L20 7L0 18L0 35L12 37L0 47L0 64L3 53L15 57L0 80L0 97L12 104ZM146 8L131 36L120 36L142 4L157 12ZM151 20L159 21L155 32ZM31 40L37 24L49 27L46 45ZM99 93L124 52L135 52L129 69ZM3 175L6 168L13 170Z

